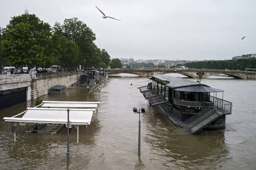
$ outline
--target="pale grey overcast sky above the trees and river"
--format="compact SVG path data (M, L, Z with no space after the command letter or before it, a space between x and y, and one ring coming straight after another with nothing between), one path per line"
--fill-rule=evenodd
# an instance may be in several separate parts
M77 17L112 58L223 60L256 52L255 0L0 1L2 28L25 9L51 26ZM121 21L101 18L95 6Z

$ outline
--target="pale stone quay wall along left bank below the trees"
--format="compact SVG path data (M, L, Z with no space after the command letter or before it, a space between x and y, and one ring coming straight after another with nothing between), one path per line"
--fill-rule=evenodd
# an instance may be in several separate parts
M0 75L0 91L26 88L27 100L48 94L49 88L62 85L69 87L80 81L82 71L58 73L30 73L22 75Z

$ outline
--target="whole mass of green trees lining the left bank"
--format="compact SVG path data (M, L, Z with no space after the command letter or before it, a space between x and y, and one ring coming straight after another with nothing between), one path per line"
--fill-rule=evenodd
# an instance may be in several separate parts
M56 22L53 29L35 14L12 17L4 30L0 28L0 67L38 66L107 68L110 56L99 49L95 33L78 18ZM4 61L4 64L3 64Z

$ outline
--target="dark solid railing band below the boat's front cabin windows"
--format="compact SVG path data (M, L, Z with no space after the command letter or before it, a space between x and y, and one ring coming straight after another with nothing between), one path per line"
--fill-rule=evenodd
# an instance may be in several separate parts
M201 102L201 101L188 101L188 100L178 100L173 99L175 105L182 105L187 107L214 107L213 102Z

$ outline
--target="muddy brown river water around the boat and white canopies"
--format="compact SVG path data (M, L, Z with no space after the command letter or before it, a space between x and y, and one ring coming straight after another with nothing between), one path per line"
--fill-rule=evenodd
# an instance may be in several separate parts
M130 85L132 83L132 86ZM70 160L66 160L66 131L49 136L25 132L2 121L25 110L31 102L0 110L1 169L255 169L256 168L256 81L202 79L223 89L224 99L233 102L226 116L226 129L197 135L176 135L174 125L156 107L151 107L137 87L147 78L111 77L98 92L69 87L66 94L45 95L43 100L100 101L88 128L70 132ZM133 107L144 107L141 156L137 156L139 115Z

